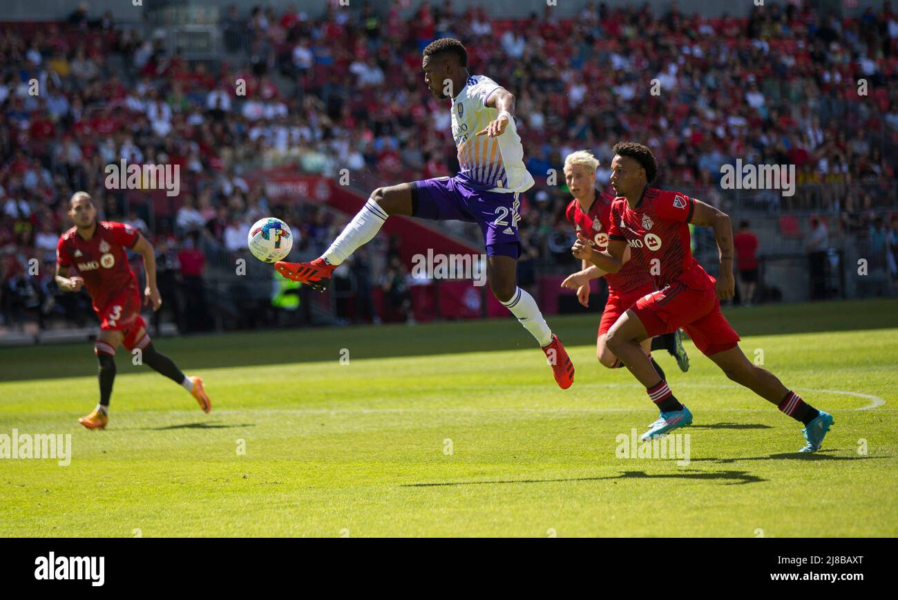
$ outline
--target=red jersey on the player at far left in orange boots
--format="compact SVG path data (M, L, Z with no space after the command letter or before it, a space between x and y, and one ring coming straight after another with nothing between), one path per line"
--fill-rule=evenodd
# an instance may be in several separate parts
M137 278L128 265L125 248L137 242L137 230L131 225L98 221L90 240L78 235L75 227L59 236L57 263L60 267L74 266L84 278L84 287L91 295L95 310L101 310L110 299L122 291L137 290Z

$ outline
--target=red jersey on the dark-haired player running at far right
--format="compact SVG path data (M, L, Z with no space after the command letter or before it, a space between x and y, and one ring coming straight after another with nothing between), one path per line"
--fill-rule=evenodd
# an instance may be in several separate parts
M629 244L629 263L654 276L656 289L674 281L693 289L709 289L714 287L714 279L690 249L687 224L694 209L695 200L676 191L647 188L636 208L619 197L612 204L608 237Z

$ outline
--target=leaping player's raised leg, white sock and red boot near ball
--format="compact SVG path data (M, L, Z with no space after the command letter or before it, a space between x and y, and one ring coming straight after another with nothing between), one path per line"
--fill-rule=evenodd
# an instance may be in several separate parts
M311 262L275 263L277 272L288 279L311 286L316 292L323 292L330 286L333 269L347 260L359 246L370 242L381 230L387 217L391 215L412 215L412 184L401 183L386 188L377 188L352 217L349 224L330 244L321 257Z

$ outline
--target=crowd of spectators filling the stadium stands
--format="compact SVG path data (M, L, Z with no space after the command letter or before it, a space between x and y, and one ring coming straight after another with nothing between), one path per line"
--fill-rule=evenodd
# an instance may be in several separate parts
M449 111L420 70L421 49L441 36L461 39L471 72L517 96L538 181L521 222L524 277L534 260L567 259L568 197L563 181L550 184L553 170L563 179L564 156L591 148L606 181L622 138L654 149L666 186L725 207L721 163L795 164L796 199L774 194L763 207L841 215L832 226L891 249L894 265L898 225L884 208L898 190L898 15L889 2L851 19L769 2L747 20L682 14L675 2L663 13L589 2L572 19L546 6L518 21L455 10L451 0L407 15L407 4L386 13L329 4L311 16L232 7L215 61L186 60L108 13L0 24L4 321L16 307L48 304L74 190L170 251L191 232L241 251L248 225L276 210L301 224L298 237L314 249L339 224L313 207L269 207L244 170L346 168L383 182L455 172ZM122 159L180 165L171 215L106 189L105 165Z

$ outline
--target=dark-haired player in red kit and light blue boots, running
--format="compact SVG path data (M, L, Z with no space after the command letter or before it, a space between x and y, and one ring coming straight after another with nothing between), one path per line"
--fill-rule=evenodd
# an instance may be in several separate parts
M656 278L658 291L643 296L621 315L606 340L661 411L640 439L664 435L692 422L690 410L674 397L663 379L658 380L639 346L641 340L682 327L727 377L804 423L806 446L800 452L818 450L832 426L832 415L807 404L770 371L753 365L739 349L739 336L720 311L720 300L732 297L735 287L729 216L684 194L650 187L657 163L647 146L625 142L614 146L614 154L611 183L618 198L612 204L608 249L596 251L578 235L572 251L578 259L616 273L629 246L630 262ZM690 223L714 228L720 251L717 280L692 256Z

